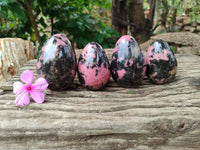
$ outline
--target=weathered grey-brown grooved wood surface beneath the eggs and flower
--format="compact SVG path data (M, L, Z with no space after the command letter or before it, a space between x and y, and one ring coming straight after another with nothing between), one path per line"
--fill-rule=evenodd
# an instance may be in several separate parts
M176 80L168 84L145 78L121 88L111 79L95 92L75 79L69 90L47 90L45 103L26 107L14 104L17 74L0 88L0 149L200 149L200 57L177 60ZM21 71L35 71L35 64Z

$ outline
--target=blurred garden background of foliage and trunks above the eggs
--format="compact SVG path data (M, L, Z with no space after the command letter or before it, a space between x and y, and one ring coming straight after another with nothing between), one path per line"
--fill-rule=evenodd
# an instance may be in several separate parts
M121 35L141 44L177 31L200 32L199 0L0 0L0 38L30 40L38 49L60 32L75 48L91 41L113 48Z

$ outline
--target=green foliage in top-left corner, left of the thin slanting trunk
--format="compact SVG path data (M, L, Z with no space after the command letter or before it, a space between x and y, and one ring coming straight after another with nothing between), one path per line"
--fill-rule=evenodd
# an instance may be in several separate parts
M1 37L20 37L27 39L32 34L31 22L26 12L16 0L0 0Z

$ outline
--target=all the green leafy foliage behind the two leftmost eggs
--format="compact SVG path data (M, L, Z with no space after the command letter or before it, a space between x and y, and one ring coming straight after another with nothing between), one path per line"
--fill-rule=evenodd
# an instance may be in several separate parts
M20 1L26 6L24 0ZM95 17L93 12L98 12L99 8L111 9L111 4L111 0L34 0L32 12L43 42L52 34L62 32L78 48L92 41L108 48L114 47L113 37L120 34L108 27L102 18ZM5 21L0 24L0 37L29 37L36 42L30 17L18 0L0 0L0 17Z

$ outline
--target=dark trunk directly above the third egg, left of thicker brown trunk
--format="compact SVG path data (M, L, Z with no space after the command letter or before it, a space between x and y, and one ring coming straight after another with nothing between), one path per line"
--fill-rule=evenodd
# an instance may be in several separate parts
M126 0L112 1L112 27L122 35L127 34Z

